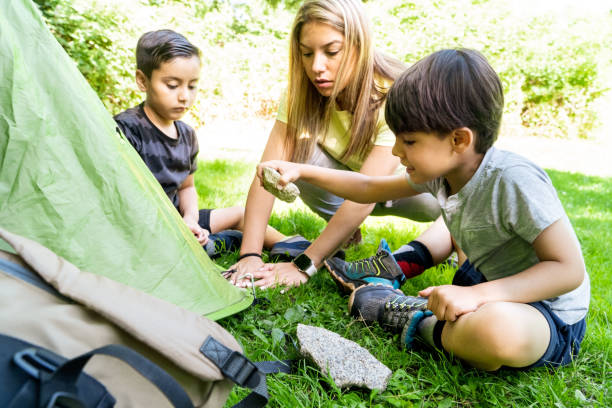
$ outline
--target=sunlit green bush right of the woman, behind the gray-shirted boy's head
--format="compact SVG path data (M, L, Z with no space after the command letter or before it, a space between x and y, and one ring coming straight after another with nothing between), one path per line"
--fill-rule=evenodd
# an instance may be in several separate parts
M382 45L408 64L441 48L481 51L504 84L508 131L519 125L531 134L584 138L598 125L612 49L609 13L542 15L501 0L390 0L371 10Z

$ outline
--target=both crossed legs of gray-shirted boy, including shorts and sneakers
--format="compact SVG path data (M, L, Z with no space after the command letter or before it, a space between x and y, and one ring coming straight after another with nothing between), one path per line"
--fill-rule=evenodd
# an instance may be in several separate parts
M429 243L436 240L439 245L440 239L445 236L445 228L444 224L437 225L436 222L419 237L419 241ZM442 242L445 243L442 250L431 254L432 263L446 259L447 250L450 252L452 248L450 240L448 243ZM473 286L486 281L476 268L465 262L465 254L460 250L457 252L461 268L453 278L453 285ZM418 263L422 259L412 251L403 255L400 253L400 256L406 254L413 262ZM393 289L405 281L404 274L411 272L400 268L397 259L397 252L394 257L381 244L377 255L368 260L351 263L336 259L329 260L326 266L339 286L345 290L351 286L356 288L349 299L351 314L361 316L367 322L378 321L386 329L401 333L400 341L404 346L410 347L416 336L487 371L502 366L562 365L577 355L584 334L584 321L568 326L543 302L486 303L454 322L438 321L427 310L425 298L405 296ZM367 265L373 266L369 273L363 270ZM426 265L426 268L429 266Z

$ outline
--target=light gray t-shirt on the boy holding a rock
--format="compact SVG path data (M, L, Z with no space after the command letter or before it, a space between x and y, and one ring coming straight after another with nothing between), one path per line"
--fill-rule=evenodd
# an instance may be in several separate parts
M522 156L494 147L457 194L448 196L444 178L410 183L417 191L437 198L457 245L489 281L538 263L533 241L555 221L567 218L544 170ZM572 235L578 242L573 230ZM589 299L589 277L585 274L578 288L544 302L561 320L573 324L586 315Z

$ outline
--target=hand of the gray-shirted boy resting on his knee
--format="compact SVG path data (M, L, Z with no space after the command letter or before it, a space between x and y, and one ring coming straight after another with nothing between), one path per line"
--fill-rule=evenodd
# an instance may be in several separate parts
M427 298L427 308L438 320L454 322L463 314L473 312L481 305L474 286L430 286L419 292Z

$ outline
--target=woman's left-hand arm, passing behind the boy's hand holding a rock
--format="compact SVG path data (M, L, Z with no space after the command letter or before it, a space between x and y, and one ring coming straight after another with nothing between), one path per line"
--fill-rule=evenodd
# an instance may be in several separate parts
M270 131L268 142L264 149L262 160L288 160L289 154L285 152L285 137L287 125L279 120L274 122L274 127ZM261 186L259 179L254 177L244 212L244 231L242 236L241 254L257 253L261 254L264 243L265 231L268 226L272 207L274 206L274 196L268 193ZM236 269L232 282L245 273L252 273L254 270L263 266L263 262L254 256L243 258L232 268Z

